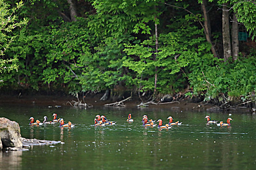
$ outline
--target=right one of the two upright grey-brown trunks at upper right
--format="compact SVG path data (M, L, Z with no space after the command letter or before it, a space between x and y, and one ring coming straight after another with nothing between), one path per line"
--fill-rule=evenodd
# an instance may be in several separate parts
M233 14L231 36L232 36L232 54L233 54L234 60L236 60L239 53L239 40L238 40L238 23L237 23L237 18L235 16L235 13Z

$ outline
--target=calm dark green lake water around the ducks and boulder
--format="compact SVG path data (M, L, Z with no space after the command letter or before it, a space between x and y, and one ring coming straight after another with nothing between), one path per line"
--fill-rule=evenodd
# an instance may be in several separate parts
M29 118L43 121L53 113L74 128L58 124L30 126ZM126 121L128 113L134 122ZM105 115L115 120L112 126L94 127L94 117ZM142 127L142 116L149 119L167 118L182 121L169 130ZM231 117L231 127L206 125L205 116L223 120ZM256 116L239 111L206 113L171 111L156 108L95 107L87 110L70 107L1 105L0 117L20 124L21 136L46 140L61 140L64 144L34 146L29 151L0 153L2 170L152 170L152 169L256 169Z

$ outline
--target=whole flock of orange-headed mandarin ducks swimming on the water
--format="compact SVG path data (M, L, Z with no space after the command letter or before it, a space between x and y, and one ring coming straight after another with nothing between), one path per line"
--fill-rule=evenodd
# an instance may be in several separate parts
M72 124L71 121L68 121L68 123L64 123L64 119L63 118L59 118L57 117L57 113L53 113L53 120L52 121L48 121L48 118L46 116L43 117L43 122L41 122L40 120L36 120L36 122L34 122L34 118L31 117L29 120L29 125L43 125L43 124L54 124L54 123L60 123L60 127L74 127L75 124ZM158 123L158 128L159 129L170 129L172 126L177 126L177 125L181 125L182 122L179 121L175 121L172 119L172 117L168 117L167 119L169 119L169 123L163 125L163 121L162 119L158 119L157 122ZM230 126L230 121L233 120L231 118L227 119L227 123L223 123L223 121L216 121L216 120L211 120L210 116L206 116L205 119L207 119L207 125L210 124L216 124L217 126ZM142 117L142 126L143 127L155 127L157 124L155 124L156 120L152 120L149 119L147 115L144 115ZM131 114L128 115L128 119L127 122L133 122L133 119L131 118ZM94 118L94 126L105 126L105 125L114 125L116 123L116 121L110 121L106 118L106 116L100 116L100 115L96 115Z

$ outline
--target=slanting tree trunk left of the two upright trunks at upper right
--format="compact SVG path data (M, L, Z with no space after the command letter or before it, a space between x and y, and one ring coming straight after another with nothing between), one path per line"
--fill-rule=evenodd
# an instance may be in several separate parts
M201 8L202 8L203 17L204 17L204 33L206 36L206 40L207 40L207 42L209 42L211 44L211 50L213 52L213 56L218 57L218 54L217 54L217 52L213 46L212 40L211 40L211 24L210 24L210 19L209 19L208 12L206 9L206 1L205 0L202 1Z

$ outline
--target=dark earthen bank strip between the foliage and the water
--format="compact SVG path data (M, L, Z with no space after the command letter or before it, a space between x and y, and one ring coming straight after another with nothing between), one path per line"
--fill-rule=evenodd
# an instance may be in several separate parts
M102 95L94 95L85 97L85 103L93 106L104 106L104 104L117 102L117 101L101 101ZM1 104L26 104L26 105L48 105L48 106L71 106L70 101L77 101L72 96L58 96L58 95L24 95L24 96L13 96L13 95L1 95ZM81 100L81 99L80 99ZM124 102L127 107L137 107L141 101L139 98L132 98L129 101ZM115 107L115 106L108 106ZM149 104L149 107L154 108L170 108L171 110L197 110L197 111L223 111L219 110L218 107L213 104L207 104L205 102L191 102L191 100L182 100L179 102L169 104ZM237 109L237 108L236 108ZM249 108L242 108L245 112L250 112Z

